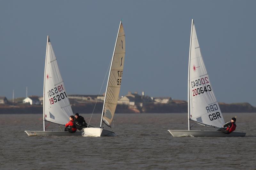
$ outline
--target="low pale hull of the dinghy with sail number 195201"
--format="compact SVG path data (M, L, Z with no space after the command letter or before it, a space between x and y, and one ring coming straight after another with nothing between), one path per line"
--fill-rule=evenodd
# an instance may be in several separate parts
M82 132L69 133L65 131L25 131L28 136L82 136Z

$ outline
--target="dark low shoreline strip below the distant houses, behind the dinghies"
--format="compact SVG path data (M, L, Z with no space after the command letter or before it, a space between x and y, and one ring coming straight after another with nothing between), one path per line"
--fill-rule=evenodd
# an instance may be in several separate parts
M95 102L71 105L74 113L91 114ZM222 113L256 113L256 107L249 103L219 103ZM102 113L103 103L98 102L94 113ZM179 103L171 102L168 104L144 103L142 107L118 104L116 113L188 113L188 103L182 101ZM0 114L43 114L42 105L6 105L0 104Z

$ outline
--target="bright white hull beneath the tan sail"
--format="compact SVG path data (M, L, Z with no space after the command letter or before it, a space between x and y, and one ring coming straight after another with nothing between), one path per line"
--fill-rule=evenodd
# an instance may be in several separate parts
M114 132L102 128L84 128L83 130L85 137L116 137Z

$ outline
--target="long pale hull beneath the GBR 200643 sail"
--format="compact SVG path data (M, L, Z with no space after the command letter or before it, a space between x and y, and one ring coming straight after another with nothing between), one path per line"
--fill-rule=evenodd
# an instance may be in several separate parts
M168 130L173 137L245 137L246 133L232 132L225 134L221 131L204 130Z

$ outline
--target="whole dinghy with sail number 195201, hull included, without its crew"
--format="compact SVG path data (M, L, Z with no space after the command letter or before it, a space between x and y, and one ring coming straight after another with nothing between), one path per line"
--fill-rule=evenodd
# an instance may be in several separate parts
M45 67L44 67L44 96L43 120L65 125L73 115L68 95L60 75L60 70L53 52L49 36L47 36ZM61 128L60 128L61 129ZM25 131L28 136L81 136L82 132L69 133L65 131Z

